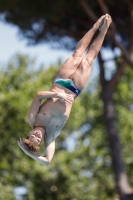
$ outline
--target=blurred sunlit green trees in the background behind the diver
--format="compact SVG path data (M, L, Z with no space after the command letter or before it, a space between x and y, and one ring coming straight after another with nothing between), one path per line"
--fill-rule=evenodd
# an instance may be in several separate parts
M17 146L17 139L25 137L30 130L26 115L32 98L37 91L50 88L61 63L38 70L34 70L34 65L34 60L28 56L17 55L7 67L1 68L1 199L14 199L12 191L17 186L28 189L25 197L28 200L117 199L98 80L87 85L75 100L48 167L26 156ZM126 68L113 97L125 171L132 185L133 159L129 154L133 150L131 72Z

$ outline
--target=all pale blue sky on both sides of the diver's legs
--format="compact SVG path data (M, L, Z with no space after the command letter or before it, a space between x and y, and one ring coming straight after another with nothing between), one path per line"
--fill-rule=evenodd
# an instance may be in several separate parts
M16 53L35 57L37 66L44 64L45 67L48 67L50 64L57 63L58 59L64 62L71 56L72 51L52 49L50 45L45 43L28 46L27 40L25 38L22 39L16 26L0 21L0 66L7 63ZM110 59L114 56L109 49L103 48L102 53L104 59ZM116 54L119 54L118 49L116 49ZM114 70L114 63L110 61L106 64L106 67L106 77L109 79L111 77L110 71ZM95 59L89 80L91 81L98 73L98 63L97 59Z

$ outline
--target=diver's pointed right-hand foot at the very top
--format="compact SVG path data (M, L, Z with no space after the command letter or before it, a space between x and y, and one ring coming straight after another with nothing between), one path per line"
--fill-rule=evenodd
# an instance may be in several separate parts
M99 31L106 32L108 30L111 22L112 22L112 19L111 19L110 15L106 14L103 19L103 22L101 23L101 26L99 27Z

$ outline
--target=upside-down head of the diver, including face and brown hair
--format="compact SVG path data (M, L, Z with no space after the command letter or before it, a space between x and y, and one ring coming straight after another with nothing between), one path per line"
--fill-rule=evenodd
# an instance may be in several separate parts
M44 127L35 127L31 132L29 132L26 139L23 139L24 144L29 150L36 152L40 149L41 141L44 138L45 129Z

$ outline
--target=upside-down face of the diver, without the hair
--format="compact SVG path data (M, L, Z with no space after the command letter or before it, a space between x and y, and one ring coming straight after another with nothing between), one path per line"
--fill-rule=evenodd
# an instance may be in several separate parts
M44 129L41 127L34 128L29 134L29 140L39 145L43 139Z

